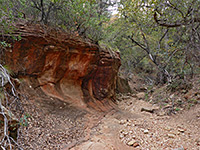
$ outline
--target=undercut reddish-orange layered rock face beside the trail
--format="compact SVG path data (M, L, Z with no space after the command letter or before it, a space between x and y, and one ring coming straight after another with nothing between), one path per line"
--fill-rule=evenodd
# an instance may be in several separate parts
M14 35L22 39L12 43L5 61L16 77L29 78L34 88L79 107L111 107L118 53L40 25L17 25Z

